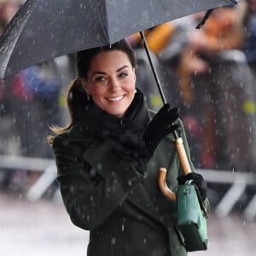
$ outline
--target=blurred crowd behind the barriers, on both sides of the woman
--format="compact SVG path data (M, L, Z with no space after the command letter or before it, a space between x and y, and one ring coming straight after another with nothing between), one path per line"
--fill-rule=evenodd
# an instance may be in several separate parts
M24 1L23 1L24 2ZM0 33L22 1L0 1ZM145 35L167 102L180 108L195 167L255 172L256 0L155 26ZM149 108L162 106L139 34L137 86ZM74 55L29 67L0 81L0 154L53 157L49 125L67 125L65 93L75 77ZM1 167L0 167L1 168ZM12 177L4 172L1 183Z

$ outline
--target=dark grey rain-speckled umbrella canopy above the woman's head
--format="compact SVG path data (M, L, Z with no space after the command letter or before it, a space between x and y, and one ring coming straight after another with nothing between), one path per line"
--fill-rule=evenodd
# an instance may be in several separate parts
M27 0L0 38L0 77L239 0Z

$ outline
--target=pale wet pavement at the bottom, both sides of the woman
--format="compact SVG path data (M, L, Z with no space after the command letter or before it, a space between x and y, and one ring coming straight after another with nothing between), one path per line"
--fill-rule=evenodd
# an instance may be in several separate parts
M256 220L240 215L208 221L208 250L192 256L256 255ZM0 250L3 256L86 255L88 232L74 226L60 201L32 203L0 194ZM143 255L142 255L143 256Z

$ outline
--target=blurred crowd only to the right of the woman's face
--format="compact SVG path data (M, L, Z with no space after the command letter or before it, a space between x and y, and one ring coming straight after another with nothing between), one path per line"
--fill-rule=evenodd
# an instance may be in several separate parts
M214 9L156 26L146 32L148 46L167 102L181 109L194 164L198 168L254 172L256 1ZM131 44L141 48L138 35ZM139 60L147 66L146 56ZM147 81L154 87L148 67ZM141 70L142 79L145 73ZM156 89L148 102L160 108Z

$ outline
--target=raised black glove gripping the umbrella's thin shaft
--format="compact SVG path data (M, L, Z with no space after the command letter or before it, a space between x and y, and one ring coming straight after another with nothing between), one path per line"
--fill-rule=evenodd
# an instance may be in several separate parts
M177 130L178 125L173 124L178 118L178 108L170 108L167 103L148 124L143 138L137 147L137 156L147 163L154 154L160 141L171 132Z

